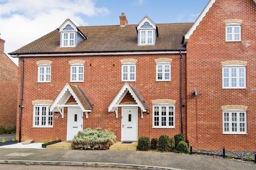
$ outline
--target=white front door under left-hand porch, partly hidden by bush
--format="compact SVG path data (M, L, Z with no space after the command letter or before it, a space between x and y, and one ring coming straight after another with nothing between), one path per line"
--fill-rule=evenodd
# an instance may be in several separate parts
M68 108L67 140L73 140L78 131L83 131L83 111L80 108Z

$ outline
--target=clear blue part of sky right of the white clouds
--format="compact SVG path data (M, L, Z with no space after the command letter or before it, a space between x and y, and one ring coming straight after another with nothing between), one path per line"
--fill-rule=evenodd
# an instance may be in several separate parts
M137 24L145 15L156 23L194 22L207 4L207 0L98 0L99 6L109 9L109 14L86 17L90 25L119 24L118 16L124 12L129 24Z

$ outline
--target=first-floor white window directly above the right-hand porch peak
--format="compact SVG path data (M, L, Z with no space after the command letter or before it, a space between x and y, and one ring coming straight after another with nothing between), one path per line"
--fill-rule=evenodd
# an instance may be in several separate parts
M122 81L136 81L136 65L134 63L122 64Z

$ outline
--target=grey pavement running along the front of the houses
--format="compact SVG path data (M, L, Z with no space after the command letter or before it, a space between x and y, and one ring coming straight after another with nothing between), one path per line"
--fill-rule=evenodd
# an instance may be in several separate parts
M172 167L179 169L256 169L256 165L236 160L175 153L112 151L0 149L2 160L39 160L61 162L100 162Z

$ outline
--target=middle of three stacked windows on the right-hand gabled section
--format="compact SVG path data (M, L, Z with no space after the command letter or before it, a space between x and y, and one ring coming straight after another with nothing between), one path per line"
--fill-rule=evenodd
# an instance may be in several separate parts
M246 88L246 67L242 65L223 66L222 87L224 89Z

